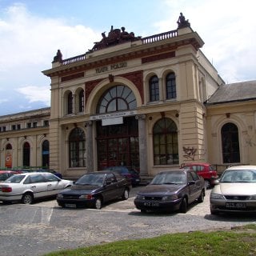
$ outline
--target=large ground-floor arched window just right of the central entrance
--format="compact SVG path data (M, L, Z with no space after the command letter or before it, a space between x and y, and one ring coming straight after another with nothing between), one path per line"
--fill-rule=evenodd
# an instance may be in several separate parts
M153 128L154 165L178 164L177 126L170 118L162 118Z

